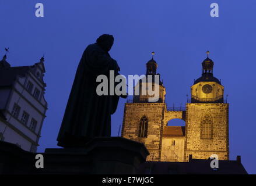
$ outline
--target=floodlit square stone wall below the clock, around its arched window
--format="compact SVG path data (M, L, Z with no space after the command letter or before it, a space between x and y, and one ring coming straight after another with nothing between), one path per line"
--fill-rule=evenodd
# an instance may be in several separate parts
M201 139L201 122L205 115L213 120L212 139ZM229 160L229 104L187 103L185 153L195 159L208 159L217 154L220 160Z

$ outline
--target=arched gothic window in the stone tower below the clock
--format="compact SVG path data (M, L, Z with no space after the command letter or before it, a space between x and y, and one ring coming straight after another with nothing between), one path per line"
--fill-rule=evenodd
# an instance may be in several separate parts
M201 122L201 139L212 139L213 123L211 117L206 115Z

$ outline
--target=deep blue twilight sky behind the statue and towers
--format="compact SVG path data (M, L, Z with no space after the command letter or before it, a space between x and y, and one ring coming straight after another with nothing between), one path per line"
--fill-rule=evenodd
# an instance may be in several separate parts
M44 17L35 16L38 2L44 4ZM219 17L210 16L213 2L219 4ZM8 62L25 66L45 54L48 110L38 152L57 147L82 52L107 33L115 38L110 54L126 76L145 74L145 63L156 52L169 105L186 102L209 50L214 75L229 94L230 159L241 155L248 173L256 174L255 9L255 0L1 0L0 55L9 47ZM113 136L122 124L124 102L112 116Z

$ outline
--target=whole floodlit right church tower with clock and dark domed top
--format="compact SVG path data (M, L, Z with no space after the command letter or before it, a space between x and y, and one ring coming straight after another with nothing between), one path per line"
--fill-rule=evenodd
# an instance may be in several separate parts
M202 76L191 86L187 103L184 160L208 159L212 154L229 160L229 103L223 99L224 87L213 76L213 61L202 62Z

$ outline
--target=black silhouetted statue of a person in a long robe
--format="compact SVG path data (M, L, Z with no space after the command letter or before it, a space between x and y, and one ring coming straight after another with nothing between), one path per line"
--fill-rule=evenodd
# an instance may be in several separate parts
M108 53L113 42L112 35L103 34L83 52L59 130L58 146L82 147L94 137L110 137L111 114L117 109L119 96L97 95L100 83L96 78L104 74L109 80L110 70L115 70L115 76L120 70Z

